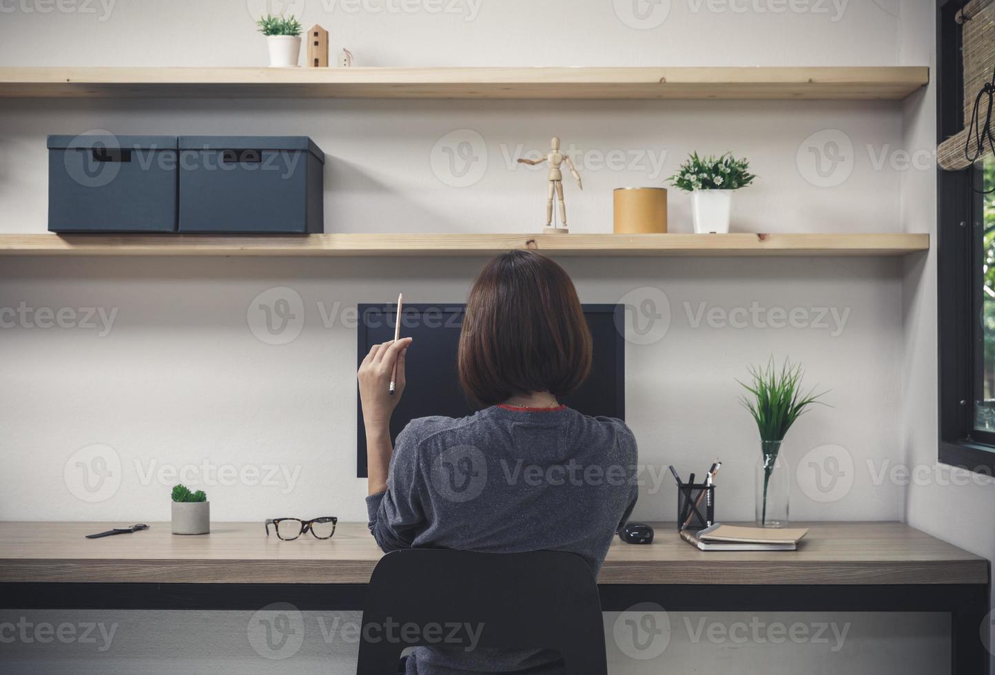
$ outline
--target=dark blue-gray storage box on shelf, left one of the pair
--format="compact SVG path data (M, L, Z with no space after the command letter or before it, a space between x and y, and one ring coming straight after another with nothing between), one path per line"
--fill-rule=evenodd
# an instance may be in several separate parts
M49 231L176 231L176 136L49 136L48 147Z

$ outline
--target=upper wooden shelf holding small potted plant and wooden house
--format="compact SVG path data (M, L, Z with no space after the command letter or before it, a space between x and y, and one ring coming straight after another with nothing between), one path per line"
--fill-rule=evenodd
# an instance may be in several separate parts
M0 68L0 97L904 98L927 67Z

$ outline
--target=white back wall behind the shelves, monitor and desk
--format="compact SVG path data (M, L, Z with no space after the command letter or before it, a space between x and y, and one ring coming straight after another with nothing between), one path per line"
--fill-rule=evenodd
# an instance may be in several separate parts
M266 62L265 43L253 33L249 8L255 8L254 0L117 0L105 21L100 21L99 4L96 14L42 14L34 0L25 1L0 0L0 8L15 8L0 12L4 66ZM928 27L918 15L906 23L901 17L912 3L896 0L801 3L792 6L812 11L783 13L756 9L776 8L777 2L733 1L732 7L747 8L738 12L713 11L729 7L721 2L665 0L655 11L669 9L666 20L647 30L631 27L635 15L621 0L485 0L481 5L467 0L451 5L461 10L456 14L390 10L435 6L431 2L367 0L366 7L384 8L379 13L344 11L351 5L341 0L301 2L290 11L302 16L305 26L321 23L329 29L333 50L347 46L367 66L928 61L928 55L916 59L906 45L928 41ZM651 14L651 23L663 16ZM7 99L0 104L0 232L45 232L45 135L101 128L117 134L309 135L328 156L328 232L536 231L544 208L543 177L513 159L521 151L543 149L553 134L563 138L584 176L582 193L565 185L576 232L609 231L613 188L659 185L696 149L746 155L760 176L754 187L736 195L735 230L900 232L908 222L903 199L914 193L928 200L933 190L926 185L928 172L901 171L896 155L914 140L908 135L909 119L917 118L919 106L928 117L928 97L904 106L871 101ZM461 140L472 143L477 165L486 168L472 186L453 187L453 175L439 160L445 157L443 146ZM832 149L826 146L831 141L843 143L844 161L820 178L808 148ZM913 186L912 180L924 181L924 187ZM691 230L689 201L673 190L670 217L672 231ZM921 220L928 231L928 214ZM0 458L8 476L0 518L165 520L168 486L175 482L170 470L186 471L187 482L208 490L217 520L319 512L344 520L364 518L365 486L354 477L355 334L348 321L339 317L329 323L326 316L357 302L390 301L398 288L413 301L460 301L480 262L4 259L0 307L24 303L35 309L97 307L107 316L116 313L103 336L100 328L44 329L23 321L0 330L5 357L0 362ZM788 436L792 470L801 467L793 517L897 520L905 515L906 496L909 514L915 512L919 493L906 490L889 472L910 461L912 436L923 457L935 457L935 447L929 449L934 429L932 436L928 429L908 431L934 417L931 408L926 410L935 390L929 366L934 345L909 338L921 332L931 339L928 331L935 322L934 308L916 309L909 298L918 285L924 293L934 290L928 272L916 268L920 258L563 262L585 302L625 298L638 304L644 297L659 299L663 291L669 304L669 323L658 323L654 333L660 339L628 345L628 419L649 466L636 517L673 519L675 494L666 477L661 482L664 467L675 463L685 473L700 472L715 455L725 462L716 498L719 517L752 516L755 429L737 406L733 378L743 377L748 364L771 353L801 361L810 382L831 390L826 400L833 407L816 410ZM303 307L302 330L285 345L258 339L247 318L254 298L275 287L291 288L289 297L297 293ZM802 308L799 316L817 325L775 328L764 313L762 323L736 328L723 324L722 312L714 309L738 317L737 308L753 303L773 310L775 321L781 310ZM718 320L697 323L702 306L718 311ZM832 312L845 316L845 322L834 320ZM417 358L417 348L411 358ZM907 393L909 378L918 373L924 374L915 390L921 407ZM78 465L100 468L95 458L111 466L120 462L119 484L111 479L100 485L96 474L85 474ZM843 474L826 483L812 466L831 467L828 460L841 460ZM219 467L264 476L276 467L277 473L262 485L253 473L227 484L219 483ZM661 489L654 488L655 480ZM991 490L979 488L978 498ZM932 529L938 532L942 523ZM967 541L958 543L970 548ZM991 557L991 546L979 552ZM673 625L684 625L679 616L672 616ZM778 649L753 644L751 658L758 660L750 661L750 672L754 667L794 672L778 668L804 669L799 664L816 660L825 673L898 672L904 654L915 658L902 672L932 674L937 662L948 660L936 649L936 639L942 644L946 630L942 620L850 618L860 620L844 648L846 658L819 656L812 644ZM236 633L244 631L242 619L212 620L217 625L231 621ZM810 615L806 620L825 619ZM176 636L178 628L168 625L156 649L168 651L183 641ZM910 645L899 635L922 639ZM728 642L699 644L687 653L672 648L658 663L675 672L692 667L717 672L743 649ZM161 658L159 651L152 652L153 662ZM614 663L619 672L644 672L639 667L647 665L625 659ZM896 670L888 670L892 667Z

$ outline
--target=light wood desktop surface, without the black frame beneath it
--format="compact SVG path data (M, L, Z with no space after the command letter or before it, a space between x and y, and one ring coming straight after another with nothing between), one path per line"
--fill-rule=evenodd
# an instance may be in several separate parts
M213 523L182 537L169 523L102 539L114 523L0 523L0 582L151 584L365 584L383 555L362 523L335 536L284 542L263 523ZM120 523L116 525L120 526ZM618 539L600 584L987 584L988 562L900 523L813 523L797 552L703 553L674 525L657 540Z

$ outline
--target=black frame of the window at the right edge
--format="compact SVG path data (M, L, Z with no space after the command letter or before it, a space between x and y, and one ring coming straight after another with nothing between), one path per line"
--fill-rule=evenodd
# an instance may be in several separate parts
M963 120L963 35L954 21L967 0L940 0L936 7L937 144L959 132ZM995 433L974 428L975 378L982 345L974 339L979 315L982 224L970 197L978 171L937 171L936 315L938 331L939 461L995 474ZM981 232L979 232L981 231ZM979 236L980 235L980 236ZM967 264L965 264L967 261Z

